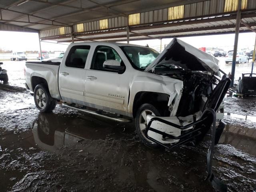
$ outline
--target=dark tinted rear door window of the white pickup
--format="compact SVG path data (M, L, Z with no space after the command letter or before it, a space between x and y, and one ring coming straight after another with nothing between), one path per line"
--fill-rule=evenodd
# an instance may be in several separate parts
M90 46L77 45L73 46L68 53L65 65L67 67L83 69L90 50Z

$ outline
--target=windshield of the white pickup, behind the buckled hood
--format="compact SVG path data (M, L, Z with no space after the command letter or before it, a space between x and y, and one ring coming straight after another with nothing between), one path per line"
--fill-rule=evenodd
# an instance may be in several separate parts
M121 46L121 49L136 69L146 68L159 55L156 50L145 47Z

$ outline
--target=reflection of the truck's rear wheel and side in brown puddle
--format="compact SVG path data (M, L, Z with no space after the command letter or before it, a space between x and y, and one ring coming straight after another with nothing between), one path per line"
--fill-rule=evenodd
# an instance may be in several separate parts
M116 123L114 124L116 126ZM78 142L84 139L103 139L113 133L115 126L92 119L89 116L79 118L40 113L33 123L33 135L36 144L48 151ZM120 132L121 128L117 130ZM115 133L115 132L114 132Z

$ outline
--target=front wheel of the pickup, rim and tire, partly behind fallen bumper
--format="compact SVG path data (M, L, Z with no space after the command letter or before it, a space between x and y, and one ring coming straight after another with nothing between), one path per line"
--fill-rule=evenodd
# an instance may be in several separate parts
M142 104L135 117L136 131L143 144L149 146L150 148L158 148L160 147L159 144L146 138L145 130L147 126L147 115L160 116L160 112L151 104Z

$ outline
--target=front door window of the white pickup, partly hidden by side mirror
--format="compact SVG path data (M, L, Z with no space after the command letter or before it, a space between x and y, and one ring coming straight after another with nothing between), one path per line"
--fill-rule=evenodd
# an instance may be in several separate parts
M119 61L121 66L124 66L124 63L122 62L122 59L120 58L116 50L108 46L96 47L90 69L108 71L107 69L103 68L103 63L104 61L109 59Z

